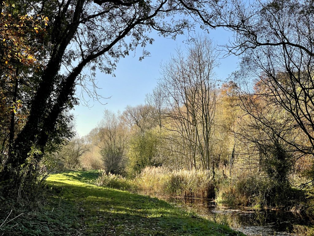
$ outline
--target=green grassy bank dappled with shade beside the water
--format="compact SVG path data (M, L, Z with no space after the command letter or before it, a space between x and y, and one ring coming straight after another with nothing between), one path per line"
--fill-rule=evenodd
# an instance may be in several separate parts
M24 217L21 224L29 227L14 227L15 231L12 231L9 226L15 222L10 222L6 226L6 233L112 236L243 235L156 198L97 187L92 184L97 176L95 171L52 174L47 178L47 184L52 190L43 208L44 212L37 212L37 219L29 217L29 221L45 220L46 223L30 225Z

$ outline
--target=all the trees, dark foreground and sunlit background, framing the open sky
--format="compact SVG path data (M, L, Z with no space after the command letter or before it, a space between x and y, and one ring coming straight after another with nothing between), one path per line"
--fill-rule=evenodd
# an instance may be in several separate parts
M311 1L8 0L0 11L3 196L23 198L56 165L128 176L165 166L204 170L213 180L258 177L272 183L278 201L311 188ZM238 71L219 81L221 52L205 36L190 39L187 52L162 65L144 104L106 110L89 135L73 138L70 110L78 89L97 98L96 68L112 74L138 47L143 59L153 30L175 39L198 25L233 32L223 53L241 57Z

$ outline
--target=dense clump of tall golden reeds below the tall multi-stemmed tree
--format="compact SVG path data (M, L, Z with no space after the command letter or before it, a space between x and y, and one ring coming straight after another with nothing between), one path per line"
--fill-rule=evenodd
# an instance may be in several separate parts
M136 177L138 190L148 195L212 198L214 182L206 171L170 171L164 167L146 167Z

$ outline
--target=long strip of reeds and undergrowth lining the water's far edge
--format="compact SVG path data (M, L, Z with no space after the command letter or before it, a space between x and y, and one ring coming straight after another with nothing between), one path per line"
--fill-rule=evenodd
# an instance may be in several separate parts
M306 190L278 184L265 176L245 174L228 178L216 173L213 180L206 171L146 167L134 179L102 173L96 185L157 197L214 198L218 204L290 209L298 213L305 213L305 206L312 205L307 202L310 198L306 197Z

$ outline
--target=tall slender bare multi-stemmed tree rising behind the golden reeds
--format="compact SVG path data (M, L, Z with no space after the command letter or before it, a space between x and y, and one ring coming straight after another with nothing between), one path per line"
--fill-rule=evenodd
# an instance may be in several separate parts
M188 48L185 57L178 50L177 57L162 67L160 84L167 102L167 129L181 137L183 155L188 160L188 168L199 168L200 156L203 169L214 171L212 139L217 101L214 68L217 51L211 42L199 37Z

